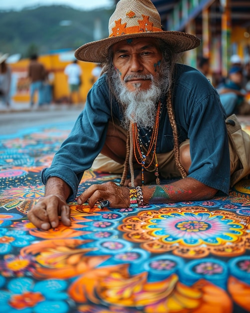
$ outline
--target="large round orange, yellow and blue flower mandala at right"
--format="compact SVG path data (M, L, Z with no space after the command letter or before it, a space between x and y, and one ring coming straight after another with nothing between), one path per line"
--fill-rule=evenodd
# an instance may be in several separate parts
M216 254L215 247L222 247L230 242L232 246L244 240L247 229L237 215L227 216L223 211L187 211L168 213L144 211L138 216L127 217L120 230L130 241L140 242L150 251L173 251L189 257L204 257L205 250ZM209 246L209 250L207 249ZM188 250L185 250L188 248ZM195 251L195 253L194 253ZM232 252L233 254L233 252Z

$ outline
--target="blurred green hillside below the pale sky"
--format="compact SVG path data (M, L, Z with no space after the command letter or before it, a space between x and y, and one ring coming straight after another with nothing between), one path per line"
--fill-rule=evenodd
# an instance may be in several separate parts
M32 52L75 49L108 36L112 12L113 9L81 11L64 5L0 11L0 52L28 57Z

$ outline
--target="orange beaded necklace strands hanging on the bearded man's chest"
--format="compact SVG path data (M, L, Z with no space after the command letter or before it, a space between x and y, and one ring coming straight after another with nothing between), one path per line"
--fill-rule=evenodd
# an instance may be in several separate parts
M155 117L155 124L152 129L152 135L148 147L148 151L144 152L143 151L143 144L142 140L140 137L140 131L138 128L137 123L132 124L132 138L133 138L133 149L134 149L134 155L136 158L136 161L138 164L141 164L142 166L142 185L144 185L144 169L148 168L153 160L155 159L155 176L156 176L156 183L160 184L160 178L159 178L159 172L158 172L158 160L157 160L157 155L156 155L156 143L157 143L157 137L158 137L158 130L159 130L159 123L160 123L160 116L161 116L161 111L162 111L162 103L159 101L158 106L157 106L157 112L156 112L156 117ZM153 155L152 159L148 161L148 164L146 165L147 157L150 155L151 151L153 150ZM139 155L140 160L138 158Z

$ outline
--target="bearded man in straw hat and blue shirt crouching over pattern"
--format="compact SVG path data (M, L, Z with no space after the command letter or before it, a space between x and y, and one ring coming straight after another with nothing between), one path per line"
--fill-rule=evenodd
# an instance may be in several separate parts
M109 33L75 52L80 60L104 63L105 73L51 166L42 171L45 196L28 214L41 229L56 227L58 215L70 225L66 201L75 199L94 160L95 168L123 174L120 185L93 184L78 197L90 207L209 199L218 190L229 192L230 173L238 169L238 155L230 163L217 91L198 70L176 63L179 52L200 40L163 31L150 0L120 0Z

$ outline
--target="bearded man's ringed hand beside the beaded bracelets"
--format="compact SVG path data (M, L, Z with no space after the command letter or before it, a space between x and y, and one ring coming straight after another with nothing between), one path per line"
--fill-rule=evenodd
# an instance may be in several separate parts
M89 207L93 207L95 203L103 200L109 200L110 207L129 207L129 189L111 181L93 184L78 197L77 202L88 202Z

